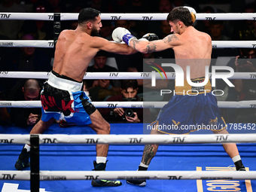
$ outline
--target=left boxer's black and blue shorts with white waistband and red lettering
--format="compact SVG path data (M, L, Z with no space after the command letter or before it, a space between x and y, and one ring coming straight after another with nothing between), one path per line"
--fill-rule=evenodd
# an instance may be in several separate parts
M50 118L59 120L64 115L67 122L77 124L90 124L90 114L96 108L84 91L81 91L83 83L50 72L48 81L41 91L41 120L47 121Z

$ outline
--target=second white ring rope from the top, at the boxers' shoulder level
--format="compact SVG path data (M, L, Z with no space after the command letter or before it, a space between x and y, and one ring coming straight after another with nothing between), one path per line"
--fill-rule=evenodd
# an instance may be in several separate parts
M53 48L53 40L0 40L0 47ZM256 41L212 41L213 48L255 48Z

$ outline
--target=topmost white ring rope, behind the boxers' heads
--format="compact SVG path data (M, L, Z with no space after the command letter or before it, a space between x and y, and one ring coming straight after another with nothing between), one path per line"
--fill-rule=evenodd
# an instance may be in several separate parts
M0 20L53 20L53 13L9 13L2 12ZM101 14L102 20L166 20L168 14ZM197 20L255 20L255 13L197 13ZM60 20L78 20L78 14L61 13Z

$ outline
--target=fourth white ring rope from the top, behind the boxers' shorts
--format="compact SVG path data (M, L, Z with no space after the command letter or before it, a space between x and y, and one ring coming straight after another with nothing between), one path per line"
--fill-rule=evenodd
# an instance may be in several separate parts
M172 94L172 93L170 93ZM96 108L163 108L167 102L92 102ZM219 108L256 108L256 100L219 101ZM0 108L41 108L41 101L0 101Z

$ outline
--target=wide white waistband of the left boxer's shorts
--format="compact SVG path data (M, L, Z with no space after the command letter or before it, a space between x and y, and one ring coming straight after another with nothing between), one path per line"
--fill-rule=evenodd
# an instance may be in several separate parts
M81 91L83 86L82 82L75 82L67 80L65 78L57 77L53 74L53 72L50 72L50 76L47 83L50 84L50 86L55 87L59 90L69 90L72 92Z

